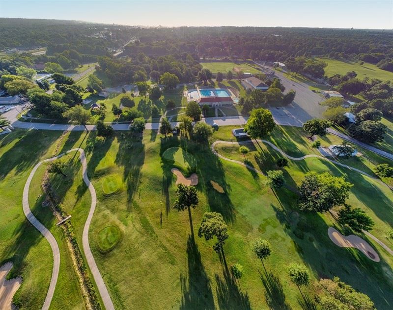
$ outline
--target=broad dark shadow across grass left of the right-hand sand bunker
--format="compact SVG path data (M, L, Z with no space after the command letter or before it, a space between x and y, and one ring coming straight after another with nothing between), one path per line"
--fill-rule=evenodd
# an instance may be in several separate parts
M328 234L328 225L320 214L301 212L296 206L296 194L277 191L281 208L272 206L285 233L292 239L288 250L295 251L319 278L338 276L354 289L367 294L377 309L393 306L392 267L380 256L380 262L369 260L363 253L334 244ZM336 226L337 230L341 230ZM379 253L378 248L374 249Z

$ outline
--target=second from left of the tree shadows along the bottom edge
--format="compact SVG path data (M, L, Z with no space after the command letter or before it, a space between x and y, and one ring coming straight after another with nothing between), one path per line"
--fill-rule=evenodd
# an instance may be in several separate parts
M222 310L251 310L251 304L247 293L243 293L228 268L223 269L223 276L215 274L216 294L218 304Z

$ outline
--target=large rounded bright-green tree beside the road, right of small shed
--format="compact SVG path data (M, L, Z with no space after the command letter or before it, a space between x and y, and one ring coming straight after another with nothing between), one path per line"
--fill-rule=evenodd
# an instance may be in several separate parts
M272 113L267 109L255 109L251 112L244 130L252 139L269 135L276 126Z

